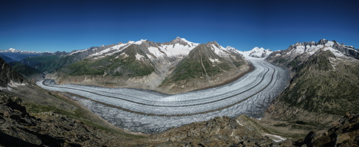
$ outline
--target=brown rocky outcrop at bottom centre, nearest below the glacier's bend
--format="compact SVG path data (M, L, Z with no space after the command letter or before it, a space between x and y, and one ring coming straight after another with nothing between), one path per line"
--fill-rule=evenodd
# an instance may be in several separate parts
M216 117L175 127L150 136L143 147L279 147L247 116Z

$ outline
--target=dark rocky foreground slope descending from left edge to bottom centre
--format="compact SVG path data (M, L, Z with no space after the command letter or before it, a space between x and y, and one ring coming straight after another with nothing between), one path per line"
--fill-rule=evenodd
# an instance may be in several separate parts
M54 111L30 116L20 98L0 93L0 146L130 146L128 140Z

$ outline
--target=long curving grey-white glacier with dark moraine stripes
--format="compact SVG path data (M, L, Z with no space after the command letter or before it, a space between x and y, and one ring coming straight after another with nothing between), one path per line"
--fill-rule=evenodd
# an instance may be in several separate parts
M131 88L57 85L48 79L37 84L47 90L85 97L69 95L115 126L156 133L216 116L262 117L273 98L288 85L289 75L266 61L249 61L255 69L232 83L177 95Z

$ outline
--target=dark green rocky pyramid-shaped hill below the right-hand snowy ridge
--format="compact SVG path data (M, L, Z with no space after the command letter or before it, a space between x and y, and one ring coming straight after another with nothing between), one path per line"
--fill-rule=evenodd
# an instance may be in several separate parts
M298 66L297 74L279 98L309 112L344 115L359 110L359 65L331 66L329 51L321 51ZM344 67L344 68L343 68Z

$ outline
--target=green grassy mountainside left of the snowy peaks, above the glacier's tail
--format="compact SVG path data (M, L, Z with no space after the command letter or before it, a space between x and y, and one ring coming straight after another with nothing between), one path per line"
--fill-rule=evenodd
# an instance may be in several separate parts
M136 54L144 53L141 50L131 49L129 47L125 50L125 55L121 55L119 52L114 55L102 57L99 59L83 59L78 62L72 63L68 66L60 68L58 71L67 73L69 75L106 75L123 76L123 77L136 77L145 76L155 72L153 65L145 60L137 60ZM121 56L116 58L116 56Z

